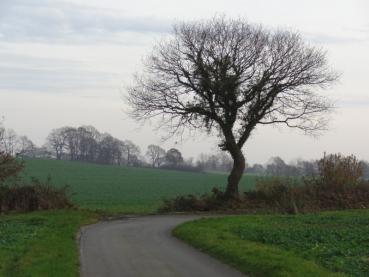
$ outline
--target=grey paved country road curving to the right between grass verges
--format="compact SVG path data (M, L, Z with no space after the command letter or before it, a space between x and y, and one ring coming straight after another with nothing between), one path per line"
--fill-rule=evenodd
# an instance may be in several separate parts
M83 228L81 276L244 276L171 236L176 225L195 218L147 216Z

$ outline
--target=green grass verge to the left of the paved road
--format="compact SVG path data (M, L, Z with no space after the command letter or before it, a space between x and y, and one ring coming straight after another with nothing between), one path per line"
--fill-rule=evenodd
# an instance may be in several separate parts
M76 234L96 221L87 211L0 216L0 276L79 276Z

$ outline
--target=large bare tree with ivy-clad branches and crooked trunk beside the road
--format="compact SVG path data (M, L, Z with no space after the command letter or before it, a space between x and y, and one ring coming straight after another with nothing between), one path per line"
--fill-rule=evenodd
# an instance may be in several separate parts
M232 198L245 168L242 147L255 127L324 130L332 106L318 90L336 79L325 52L297 33L215 17L175 26L147 59L127 101L136 119L161 116L173 134L185 128L218 134L233 158L226 189Z

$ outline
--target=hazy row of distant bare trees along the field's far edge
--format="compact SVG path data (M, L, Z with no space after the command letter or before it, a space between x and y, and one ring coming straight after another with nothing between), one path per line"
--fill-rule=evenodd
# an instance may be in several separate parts
M225 171L233 161L225 152L200 153L196 160L184 159L176 148L165 150L150 144L145 154L130 140L120 140L101 133L93 126L61 127L53 129L46 143L37 147L27 136L18 136L0 123L0 152L12 156L85 161L110 165L144 166L184 171ZM361 161L365 178L369 178L369 163ZM272 157L266 164L247 165L246 173L271 176L311 176L318 173L318 162L296 160L286 163Z

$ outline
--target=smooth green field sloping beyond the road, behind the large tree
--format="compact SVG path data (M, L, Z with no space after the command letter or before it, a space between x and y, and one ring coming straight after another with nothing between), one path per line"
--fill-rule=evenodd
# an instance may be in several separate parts
M163 198L223 188L227 175L150 168L104 166L91 163L30 159L24 175L52 177L57 186L69 185L74 203L83 208L115 213L155 212ZM253 188L255 176L245 175L241 190Z

